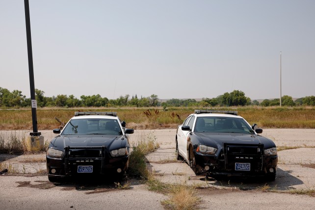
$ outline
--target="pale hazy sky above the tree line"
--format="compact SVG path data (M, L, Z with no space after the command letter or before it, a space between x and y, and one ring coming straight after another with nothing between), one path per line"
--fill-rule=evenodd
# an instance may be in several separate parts
M315 95L315 0L29 0L45 96ZM24 0L0 0L0 87L30 97Z

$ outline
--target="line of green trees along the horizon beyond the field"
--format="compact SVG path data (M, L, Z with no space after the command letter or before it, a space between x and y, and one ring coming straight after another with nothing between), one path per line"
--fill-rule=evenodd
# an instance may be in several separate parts
M85 96L82 95L80 98L76 98L74 95L57 95L56 97L46 97L45 92L39 89L35 89L35 98L38 107L45 106L59 106L59 107L113 107L113 106L133 106L133 107L150 107L150 106L199 106L199 107L210 107L210 106L245 106L245 105L261 105L261 106L277 106L280 105L280 99L265 99L261 103L257 100L251 100L245 96L245 93L240 90L234 90L231 93L224 93L216 98L203 98L201 101L195 99L170 99L165 102L160 102L158 96L152 94L149 97L140 97L137 95L120 96L117 99L103 98L101 95ZM284 106L299 106L308 105L315 106L315 96L307 96L304 98L296 99L295 101L290 96L283 96L281 98L281 104ZM6 88L0 87L0 107L30 107L31 99L26 98L22 94L22 91L13 90L10 92Z

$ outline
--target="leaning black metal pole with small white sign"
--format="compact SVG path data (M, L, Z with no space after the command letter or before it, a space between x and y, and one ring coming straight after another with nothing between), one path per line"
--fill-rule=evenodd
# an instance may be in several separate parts
M26 22L26 40L27 40L27 54L28 54L28 71L29 71L29 86L30 86L30 99L32 100L32 122L33 132L29 135L39 136L40 132L37 130L37 116L36 116L36 104L35 101L35 85L34 85L34 70L33 70L33 54L32 54L32 40L30 35L30 18L29 18L29 4L28 0L24 0L25 7L25 22Z

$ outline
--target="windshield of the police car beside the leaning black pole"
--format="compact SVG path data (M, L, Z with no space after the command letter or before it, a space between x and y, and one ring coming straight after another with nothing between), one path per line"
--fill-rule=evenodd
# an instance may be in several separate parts
M63 135L69 134L109 134L121 135L122 131L114 119L73 119L62 131Z

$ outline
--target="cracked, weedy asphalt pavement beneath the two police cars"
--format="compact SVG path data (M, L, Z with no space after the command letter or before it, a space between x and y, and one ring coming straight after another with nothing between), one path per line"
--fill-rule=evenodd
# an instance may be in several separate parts
M0 131L10 135L12 131ZM14 131L27 135L29 131ZM52 131L41 131L45 141ZM201 198L200 209L314 209L315 207L315 130L264 129L263 136L271 138L278 152L277 179L266 183L259 179L206 180L196 176L187 163L175 159L176 130L137 130L131 142L147 134L154 135L160 148L147 155L148 169L156 179L170 184L195 184ZM0 209L163 209L161 201L167 195L149 191L139 180L128 180L127 189L115 184L52 184L45 174L45 154L14 156L0 155L0 164L13 167L17 173L0 175ZM37 173L37 174L33 174ZM289 192L313 190L313 196Z

